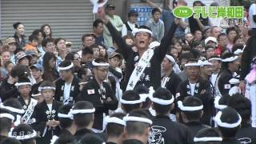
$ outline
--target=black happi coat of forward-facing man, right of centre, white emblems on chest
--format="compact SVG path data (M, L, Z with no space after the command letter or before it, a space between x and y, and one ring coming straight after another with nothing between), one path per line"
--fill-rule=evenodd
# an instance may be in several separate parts
M200 94L202 90L206 90L206 93ZM198 97L202 100L204 113L200 121L209 126L210 117L212 116L212 103L214 102L214 98L211 97L211 94L210 82L202 78L198 78L198 82L196 82L196 86L194 88L194 97ZM190 82L188 79L179 83L176 90L176 102L183 101L187 96L191 96ZM176 110L178 110L178 108Z

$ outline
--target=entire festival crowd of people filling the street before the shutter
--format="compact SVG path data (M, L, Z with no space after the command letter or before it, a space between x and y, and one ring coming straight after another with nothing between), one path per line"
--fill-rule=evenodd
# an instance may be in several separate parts
M26 37L15 22L0 41L0 144L255 144L256 1L225 26L175 18L185 0L142 2L143 26L99 8L78 51L50 25Z

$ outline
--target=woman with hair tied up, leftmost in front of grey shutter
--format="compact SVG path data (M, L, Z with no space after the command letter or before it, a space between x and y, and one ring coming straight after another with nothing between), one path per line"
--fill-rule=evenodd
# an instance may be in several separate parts
M15 22L13 27L15 30L13 38L17 42L17 50L22 50L26 46L25 26L22 22Z

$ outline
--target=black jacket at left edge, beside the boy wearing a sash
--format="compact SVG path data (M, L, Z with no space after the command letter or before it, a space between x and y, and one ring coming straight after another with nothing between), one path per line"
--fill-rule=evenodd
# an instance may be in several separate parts
M7 82L8 78L5 78L2 81L2 86L0 87L0 96L2 102L4 102L8 98L18 98L18 90L14 84L10 84Z

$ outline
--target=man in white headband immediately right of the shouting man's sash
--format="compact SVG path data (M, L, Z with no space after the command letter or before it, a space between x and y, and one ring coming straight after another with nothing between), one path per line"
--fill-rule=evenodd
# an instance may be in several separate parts
M161 86L170 90L171 94L176 94L178 84L182 82L178 74L174 72L174 66L177 65L174 58L171 55L166 54L166 58L162 61L162 70L164 76L161 78Z

